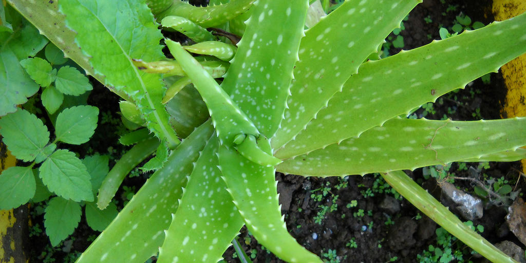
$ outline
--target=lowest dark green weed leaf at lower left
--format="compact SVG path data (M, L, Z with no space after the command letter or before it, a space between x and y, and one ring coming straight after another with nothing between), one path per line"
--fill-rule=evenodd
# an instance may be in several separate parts
M54 197L49 201L44 215L44 226L52 246L57 246L60 241L73 234L80 222L80 205L72 200Z

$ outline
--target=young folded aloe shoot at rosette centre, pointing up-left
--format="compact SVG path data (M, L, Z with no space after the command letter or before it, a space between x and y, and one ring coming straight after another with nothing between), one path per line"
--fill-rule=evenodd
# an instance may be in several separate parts
M263 135L199 62L179 43L166 39L166 45L203 96L221 144L235 147L241 155L263 166L281 163L259 148L257 139Z

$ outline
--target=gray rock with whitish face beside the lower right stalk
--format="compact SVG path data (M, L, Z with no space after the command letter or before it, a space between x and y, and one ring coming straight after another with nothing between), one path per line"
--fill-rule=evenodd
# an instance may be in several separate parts
M480 198L471 196L447 182L441 183L440 187L442 188L442 197L446 199L444 200L445 203L449 203L444 205L457 211L466 220L482 217L484 208Z

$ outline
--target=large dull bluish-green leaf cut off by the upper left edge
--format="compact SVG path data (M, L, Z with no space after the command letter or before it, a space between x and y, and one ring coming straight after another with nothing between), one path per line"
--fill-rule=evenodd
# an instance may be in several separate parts
M38 92L38 84L27 75L10 47L0 49L0 116L13 113L17 105Z

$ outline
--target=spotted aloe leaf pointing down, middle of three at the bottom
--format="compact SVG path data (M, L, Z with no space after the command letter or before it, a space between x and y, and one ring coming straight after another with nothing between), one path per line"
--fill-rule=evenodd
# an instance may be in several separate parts
M213 136L199 156L159 249L159 263L217 262L244 225L220 178L218 147Z

